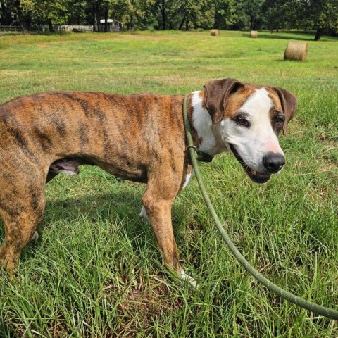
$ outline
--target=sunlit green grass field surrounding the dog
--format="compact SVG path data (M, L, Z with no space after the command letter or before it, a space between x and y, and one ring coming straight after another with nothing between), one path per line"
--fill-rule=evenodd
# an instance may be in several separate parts
M253 184L229 154L202 171L244 256L281 287L337 308L338 39L248 36L0 35L0 103L58 89L185 94L224 77L294 92L299 109L280 140L280 175ZM307 40L307 61L283 61L290 39ZM337 323L282 301L244 272L196 180L175 201L173 223L181 263L199 287L169 275L139 220L143 191L86 166L47 185L42 239L24 250L17 279L0 275L0 337L338 337Z

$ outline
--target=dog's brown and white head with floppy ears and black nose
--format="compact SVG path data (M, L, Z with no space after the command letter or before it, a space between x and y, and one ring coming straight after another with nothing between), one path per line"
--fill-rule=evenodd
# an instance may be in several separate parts
M265 183L285 163L278 134L287 132L297 99L286 89L243 84L234 79L208 82L204 102L227 149L246 174Z

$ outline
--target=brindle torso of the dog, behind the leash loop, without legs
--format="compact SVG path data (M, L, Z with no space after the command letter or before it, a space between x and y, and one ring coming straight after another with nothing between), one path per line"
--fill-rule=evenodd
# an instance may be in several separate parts
M163 148L184 146L181 96L32 94L0 106L0 125L1 152L20 161L82 157L130 180L144 181L147 159Z

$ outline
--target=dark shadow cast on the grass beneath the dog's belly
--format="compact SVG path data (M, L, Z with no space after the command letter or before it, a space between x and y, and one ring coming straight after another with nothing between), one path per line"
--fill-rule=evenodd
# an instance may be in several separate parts
M120 184L124 184L121 182ZM142 193L139 192L112 192L109 194L97 194L93 196L88 194L87 196L81 196L79 198L61 198L56 201L47 201L44 211L44 219L39 224L37 232L39 232L38 242L30 242L27 244L27 248L39 245L44 240L44 230L46 227L53 226L53 220L77 220L81 215L86 215L89 222L98 224L103 220L111 219L123 220L121 223L130 239L130 243L137 249L137 241L134 241L137 237L144 238L144 241L154 242L154 232L151 225L144 223L139 218L139 212L142 208ZM184 210L180 204L173 204L172 214L182 215ZM113 211L113 213L112 213ZM173 220L174 232L180 232L180 225ZM184 225L182 225L184 227ZM175 231L175 228L177 231ZM62 231L62 229L60 229ZM4 224L0 218L0 245L4 241ZM28 249L27 252L30 252ZM23 254L20 258L21 261L25 261L29 258L30 254Z

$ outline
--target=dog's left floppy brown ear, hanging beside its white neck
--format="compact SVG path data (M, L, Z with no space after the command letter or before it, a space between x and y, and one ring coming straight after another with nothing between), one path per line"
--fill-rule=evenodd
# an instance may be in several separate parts
M214 125L223 119L227 99L239 87L244 87L244 85L230 78L214 80L204 85L204 102Z

